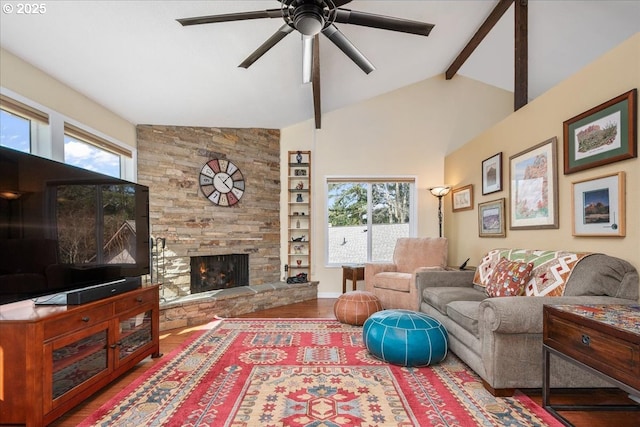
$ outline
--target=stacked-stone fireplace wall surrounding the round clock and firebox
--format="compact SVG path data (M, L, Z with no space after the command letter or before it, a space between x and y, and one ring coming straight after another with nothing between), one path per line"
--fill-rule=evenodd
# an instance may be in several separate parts
M190 298L194 284L202 288L197 296L227 292L227 279L203 283L194 257L243 254L248 273L234 285L280 282L280 132L138 125L137 136L138 182L149 186L151 234L164 243L153 260L153 279L163 285L165 302ZM242 171L246 189L236 205L216 205L202 193L200 171L211 159Z

